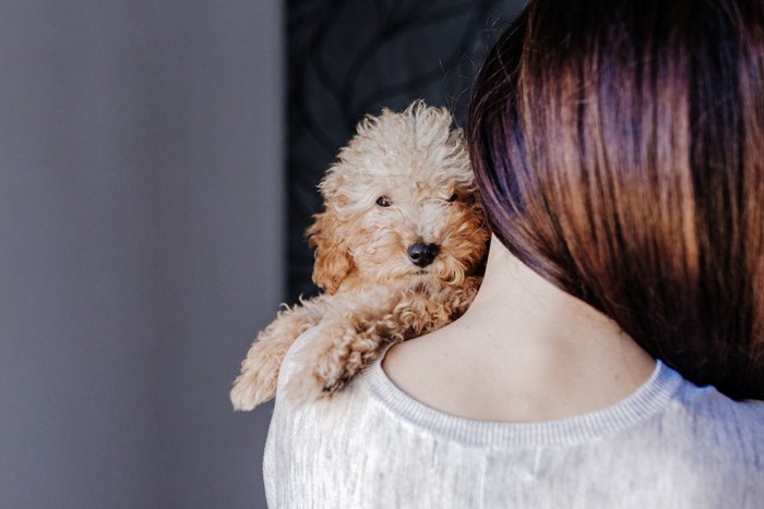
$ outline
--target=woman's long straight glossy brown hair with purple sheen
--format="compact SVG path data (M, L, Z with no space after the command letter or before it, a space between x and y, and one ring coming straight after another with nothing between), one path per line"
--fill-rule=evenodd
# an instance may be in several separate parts
M467 131L515 256L685 378L764 399L764 2L532 1Z

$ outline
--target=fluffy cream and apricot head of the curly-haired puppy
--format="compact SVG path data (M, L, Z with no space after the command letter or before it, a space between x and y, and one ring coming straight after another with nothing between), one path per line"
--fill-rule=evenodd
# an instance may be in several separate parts
M325 210L308 230L313 280L459 284L481 266L489 232L461 130L417 101L358 125L320 184Z

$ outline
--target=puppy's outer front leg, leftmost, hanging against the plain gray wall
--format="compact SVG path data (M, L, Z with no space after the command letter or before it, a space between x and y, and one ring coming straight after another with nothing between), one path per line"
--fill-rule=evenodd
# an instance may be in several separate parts
M295 339L321 320L324 311L323 296L314 298L280 312L258 335L230 391L236 410L252 410L276 395L278 372L287 350Z

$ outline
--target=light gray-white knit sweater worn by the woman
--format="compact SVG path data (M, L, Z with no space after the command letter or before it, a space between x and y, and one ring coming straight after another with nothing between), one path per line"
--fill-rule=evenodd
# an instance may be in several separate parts
M410 398L377 362L331 400L277 398L263 471L278 509L764 509L764 402L735 402L658 363L601 411L474 421Z

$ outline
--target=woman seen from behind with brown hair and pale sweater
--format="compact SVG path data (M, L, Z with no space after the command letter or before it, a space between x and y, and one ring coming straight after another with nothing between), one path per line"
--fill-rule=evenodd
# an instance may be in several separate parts
M532 1L468 134L478 296L277 401L270 505L761 507L762 1Z

